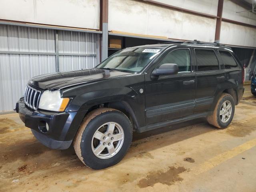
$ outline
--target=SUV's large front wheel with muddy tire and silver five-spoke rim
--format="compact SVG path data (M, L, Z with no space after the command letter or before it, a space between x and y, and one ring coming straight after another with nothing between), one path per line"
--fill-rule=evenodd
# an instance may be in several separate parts
M120 162L131 142L129 118L116 109L99 108L85 116L74 139L74 149L86 166L98 170Z

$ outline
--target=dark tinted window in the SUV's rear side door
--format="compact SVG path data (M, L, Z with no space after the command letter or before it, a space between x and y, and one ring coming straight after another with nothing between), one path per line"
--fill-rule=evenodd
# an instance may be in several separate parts
M219 62L214 50L195 49L198 71L211 71L219 69Z

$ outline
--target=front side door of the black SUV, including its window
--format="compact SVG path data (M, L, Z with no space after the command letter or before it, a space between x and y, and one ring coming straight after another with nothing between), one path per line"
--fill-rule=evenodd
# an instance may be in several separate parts
M146 124L153 124L192 115L195 107L195 73L192 72L189 48L168 51L155 63L172 63L178 74L152 78L146 74ZM153 68L154 69L154 68Z

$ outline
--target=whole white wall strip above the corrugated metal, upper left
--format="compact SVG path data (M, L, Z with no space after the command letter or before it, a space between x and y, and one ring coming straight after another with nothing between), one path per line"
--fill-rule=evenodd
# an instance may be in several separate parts
M99 29L100 0L1 0L0 19Z

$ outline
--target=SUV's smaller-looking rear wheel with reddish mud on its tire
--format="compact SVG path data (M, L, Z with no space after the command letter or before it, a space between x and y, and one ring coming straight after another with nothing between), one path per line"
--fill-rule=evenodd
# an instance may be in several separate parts
M229 106L228 104L231 104L231 111L230 110L224 110L225 108L225 104L226 106ZM224 115L220 115L220 110L222 110L221 113L224 113ZM207 120L208 123L220 128L220 129L224 129L226 128L232 121L233 117L234 117L234 112L235 112L235 104L234 104L234 98L227 93L222 93L215 108L214 111L208 115ZM225 114L227 114L229 116L226 116ZM224 118L223 118L224 116Z

